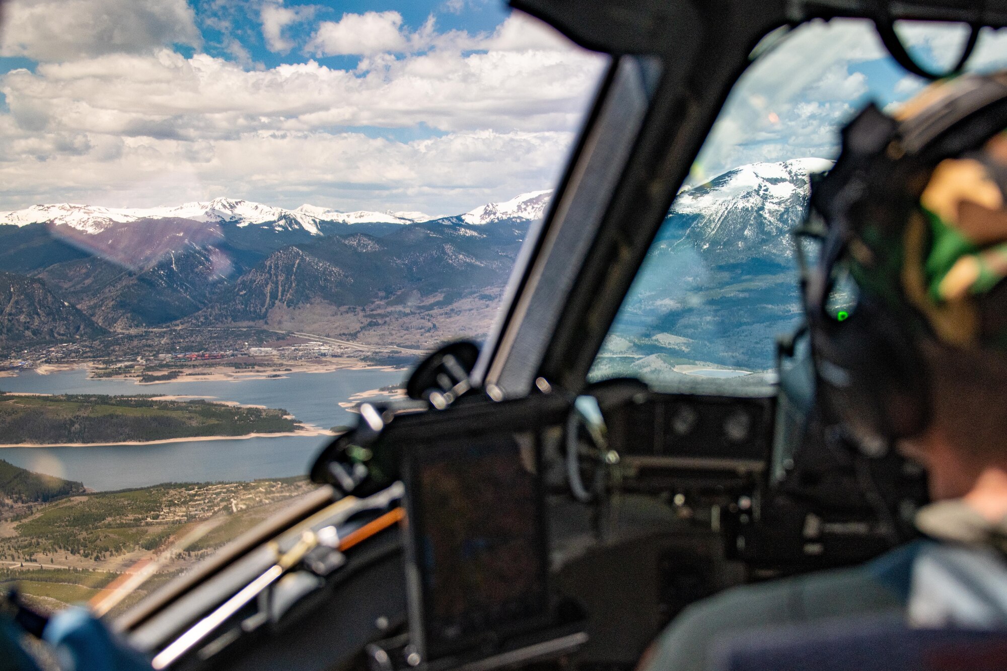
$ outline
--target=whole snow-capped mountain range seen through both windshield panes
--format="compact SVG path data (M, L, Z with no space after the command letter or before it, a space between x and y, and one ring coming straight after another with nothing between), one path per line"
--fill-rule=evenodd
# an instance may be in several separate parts
M807 212L809 173L830 165L754 163L683 189L595 377L686 362L770 368L773 337L800 318L789 231ZM70 330L79 338L264 326L424 349L488 330L529 225L551 194L433 219L226 198L148 210L35 206L0 214L0 271L51 294L31 303L37 309L58 302L78 310ZM32 332L74 337L54 326ZM0 334L0 347L12 343Z

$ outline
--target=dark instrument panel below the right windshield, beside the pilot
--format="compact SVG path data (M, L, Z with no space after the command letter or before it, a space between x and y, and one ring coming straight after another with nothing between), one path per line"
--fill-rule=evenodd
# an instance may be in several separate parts
M623 384L597 398L619 454L619 487L656 497L694 530L721 534L729 559L808 570L865 561L912 537L912 511L925 501L919 469L898 454L868 459L826 445L818 425L781 444L776 397Z

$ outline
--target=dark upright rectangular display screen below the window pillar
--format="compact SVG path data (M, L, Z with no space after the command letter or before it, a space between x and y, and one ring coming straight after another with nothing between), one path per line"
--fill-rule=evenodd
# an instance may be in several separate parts
M534 627L548 610L534 439L452 438L412 450L414 627L427 659Z

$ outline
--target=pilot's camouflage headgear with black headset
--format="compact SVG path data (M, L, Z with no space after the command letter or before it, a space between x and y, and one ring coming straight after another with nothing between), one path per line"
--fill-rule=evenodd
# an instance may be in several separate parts
M939 82L893 115L861 113L813 188L826 225L806 289L820 389L861 446L926 425L921 341L1007 361L1004 129L1007 72Z

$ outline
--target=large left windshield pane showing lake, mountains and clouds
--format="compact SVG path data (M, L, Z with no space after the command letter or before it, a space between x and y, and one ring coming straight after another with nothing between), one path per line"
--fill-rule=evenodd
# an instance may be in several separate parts
M354 7L3 3L0 582L35 605L163 555L135 600L490 328L607 57Z

